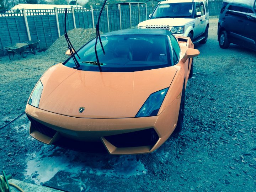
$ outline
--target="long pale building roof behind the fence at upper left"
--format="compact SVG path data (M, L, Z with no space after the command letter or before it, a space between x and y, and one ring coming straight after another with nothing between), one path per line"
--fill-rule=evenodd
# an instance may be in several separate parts
M54 9L54 7L57 8L71 8L71 6L76 7L76 5L50 5L50 4L22 4L19 3L12 7L12 10L16 9ZM78 7L82 7L81 5L78 5Z

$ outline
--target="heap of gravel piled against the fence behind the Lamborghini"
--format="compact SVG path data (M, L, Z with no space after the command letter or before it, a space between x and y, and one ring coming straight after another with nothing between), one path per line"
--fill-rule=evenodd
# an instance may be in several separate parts
M103 32L100 32L100 34L103 34ZM84 44L96 37L96 29L75 28L68 31L68 36L75 50L78 50ZM46 50L45 54L47 54L47 57L49 58L54 58L57 61L62 62L69 57L65 55L66 50L68 50L68 43L63 35Z

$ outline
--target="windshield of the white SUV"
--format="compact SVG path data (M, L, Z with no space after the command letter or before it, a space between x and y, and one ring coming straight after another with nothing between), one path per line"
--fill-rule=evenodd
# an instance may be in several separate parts
M151 19L153 18L165 18L165 17L192 17L193 3L170 3L159 4L156 7Z

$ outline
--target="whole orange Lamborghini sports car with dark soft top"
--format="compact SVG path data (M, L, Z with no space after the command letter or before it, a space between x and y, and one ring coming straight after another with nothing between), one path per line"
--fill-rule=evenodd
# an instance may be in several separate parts
M102 142L110 154L156 150L182 128L185 89L199 51L190 38L167 30L106 33L105 55L95 41L38 81L26 106L30 135L46 144L65 140L66 147Z

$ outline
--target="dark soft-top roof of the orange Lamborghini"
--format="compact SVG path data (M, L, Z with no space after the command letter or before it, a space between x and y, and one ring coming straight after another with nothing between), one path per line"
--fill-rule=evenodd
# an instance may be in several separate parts
M109 33L102 34L101 36L109 36L109 35L132 35L132 34L146 34L146 35L161 35L166 36L170 35L171 32L162 29L127 29L127 30L118 30L112 31Z

